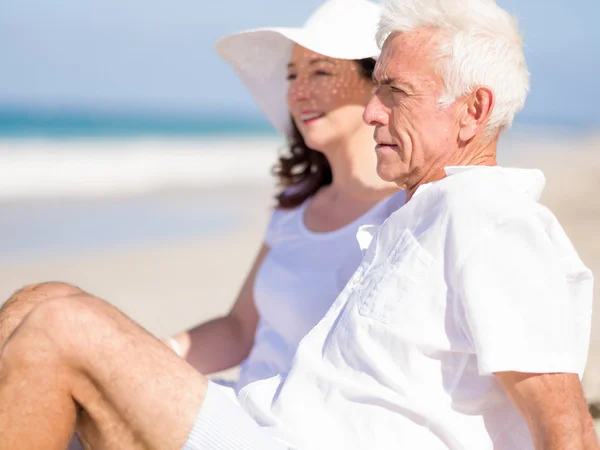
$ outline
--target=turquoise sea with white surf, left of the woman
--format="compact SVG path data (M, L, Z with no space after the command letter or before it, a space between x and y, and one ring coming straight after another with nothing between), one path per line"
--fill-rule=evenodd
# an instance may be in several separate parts
M261 117L0 108L0 199L257 181L282 144Z

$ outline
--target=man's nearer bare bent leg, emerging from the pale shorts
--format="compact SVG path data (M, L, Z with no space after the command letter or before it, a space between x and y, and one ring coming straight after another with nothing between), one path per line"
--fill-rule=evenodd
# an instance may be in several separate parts
M64 450L77 426L86 448L179 450L206 383L102 300L50 296L0 356L0 449Z

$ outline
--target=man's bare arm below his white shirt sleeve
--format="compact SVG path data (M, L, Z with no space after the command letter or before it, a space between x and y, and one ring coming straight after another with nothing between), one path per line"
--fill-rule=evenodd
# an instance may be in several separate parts
M600 449L576 374L495 375L527 421L536 450Z

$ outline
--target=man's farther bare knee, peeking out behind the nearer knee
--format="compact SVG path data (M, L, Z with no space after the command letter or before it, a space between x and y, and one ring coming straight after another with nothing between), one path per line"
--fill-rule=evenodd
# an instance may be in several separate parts
M78 287L61 282L31 284L18 290L0 309L0 348L23 320L42 303L82 294L84 292Z

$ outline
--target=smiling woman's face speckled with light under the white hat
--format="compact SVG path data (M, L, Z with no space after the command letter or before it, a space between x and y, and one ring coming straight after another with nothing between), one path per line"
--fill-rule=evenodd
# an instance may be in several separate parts
M294 45L287 102L306 145L322 151L366 125L362 114L375 90L356 61L328 58Z

